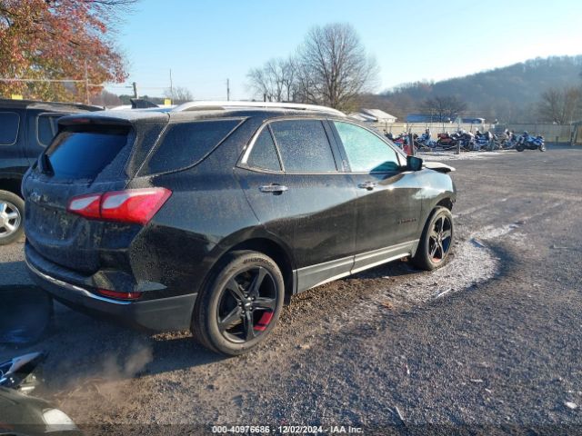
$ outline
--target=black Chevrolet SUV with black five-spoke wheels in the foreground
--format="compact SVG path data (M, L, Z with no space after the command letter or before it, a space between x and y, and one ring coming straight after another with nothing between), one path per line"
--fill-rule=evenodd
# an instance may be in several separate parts
M246 352L283 302L452 246L454 184L333 109L186 104L61 118L28 171L26 263L78 310ZM259 107L265 105L266 107Z

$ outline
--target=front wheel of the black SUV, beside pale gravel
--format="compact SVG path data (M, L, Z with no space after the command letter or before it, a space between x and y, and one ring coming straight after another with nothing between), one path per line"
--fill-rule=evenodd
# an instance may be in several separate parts
M420 243L412 258L416 268L432 271L447 263L453 246L453 230L453 215L446 207L437 207L426 220Z

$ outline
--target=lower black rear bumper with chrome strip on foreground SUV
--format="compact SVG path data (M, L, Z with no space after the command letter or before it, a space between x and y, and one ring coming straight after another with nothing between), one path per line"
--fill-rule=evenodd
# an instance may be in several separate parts
M53 272L46 272L28 255L25 263L36 284L55 300L79 312L156 332L190 328L196 293L146 301L118 301L90 292L83 285L65 281Z

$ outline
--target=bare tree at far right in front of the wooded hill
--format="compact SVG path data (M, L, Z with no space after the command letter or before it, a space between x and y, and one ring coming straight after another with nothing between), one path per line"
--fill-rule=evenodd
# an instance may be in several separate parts
M581 106L582 89L579 87L549 88L542 94L539 114L545 121L568 124L581 115Z

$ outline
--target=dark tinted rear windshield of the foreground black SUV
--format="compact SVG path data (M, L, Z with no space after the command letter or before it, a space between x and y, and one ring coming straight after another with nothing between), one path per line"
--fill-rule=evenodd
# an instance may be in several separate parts
M94 180L127 144L129 127L85 127L58 134L46 151L57 178Z

